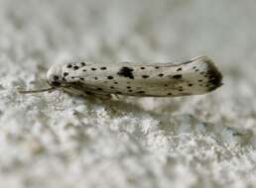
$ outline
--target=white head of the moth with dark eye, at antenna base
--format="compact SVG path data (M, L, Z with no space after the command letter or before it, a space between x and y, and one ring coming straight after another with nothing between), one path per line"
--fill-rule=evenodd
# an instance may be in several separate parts
M62 87L64 84L62 77L62 66L53 66L48 70L47 82L52 87Z

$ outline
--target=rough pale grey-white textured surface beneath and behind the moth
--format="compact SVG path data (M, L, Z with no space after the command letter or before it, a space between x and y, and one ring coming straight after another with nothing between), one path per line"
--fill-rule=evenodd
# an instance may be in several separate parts
M256 1L1 0L0 187L256 185ZM99 101L43 88L54 63L213 58L208 95Z

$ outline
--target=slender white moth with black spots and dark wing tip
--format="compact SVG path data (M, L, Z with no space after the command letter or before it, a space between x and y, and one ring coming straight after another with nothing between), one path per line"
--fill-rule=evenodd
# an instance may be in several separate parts
M93 63L53 65L47 73L50 88L21 93L62 89L80 96L111 98L178 97L200 95L222 85L222 75L213 61L198 56L180 63Z

